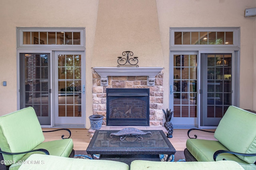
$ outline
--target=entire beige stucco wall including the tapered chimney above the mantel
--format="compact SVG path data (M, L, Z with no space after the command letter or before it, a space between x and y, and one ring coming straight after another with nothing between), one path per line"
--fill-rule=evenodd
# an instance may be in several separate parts
M255 7L255 0L1 1L0 115L18 109L16 27L86 28L87 128L92 67L115 67L123 51L133 51L139 66L164 67L167 108L170 27L240 27L240 107L256 110L256 16L244 17Z

